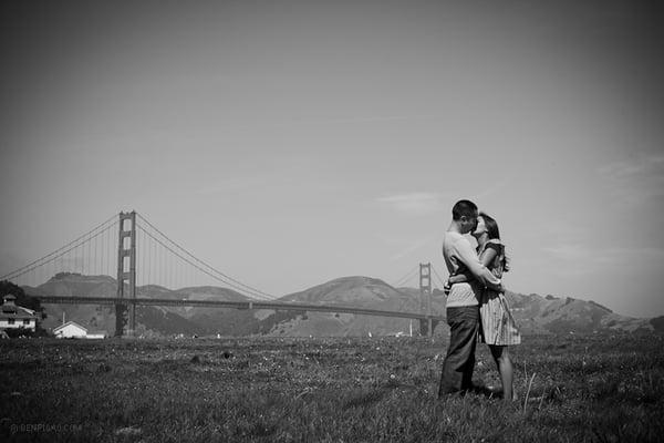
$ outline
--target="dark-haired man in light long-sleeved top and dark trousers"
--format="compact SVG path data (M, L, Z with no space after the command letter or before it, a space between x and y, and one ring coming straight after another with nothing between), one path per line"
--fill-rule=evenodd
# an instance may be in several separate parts
M457 202L443 238L443 257L449 275L465 274L468 281L453 285L447 296L449 348L443 362L438 396L473 388L479 298L485 287L502 290L500 279L481 265L470 241L464 237L475 230L477 217L477 205L469 200Z

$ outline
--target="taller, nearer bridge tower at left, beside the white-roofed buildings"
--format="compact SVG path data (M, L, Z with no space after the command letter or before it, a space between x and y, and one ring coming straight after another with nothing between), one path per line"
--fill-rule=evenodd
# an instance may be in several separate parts
M128 225L128 226L127 226ZM117 301L115 303L115 337L122 337L127 323L127 336L136 329L136 212L120 213L117 237ZM127 303L127 301L129 301Z

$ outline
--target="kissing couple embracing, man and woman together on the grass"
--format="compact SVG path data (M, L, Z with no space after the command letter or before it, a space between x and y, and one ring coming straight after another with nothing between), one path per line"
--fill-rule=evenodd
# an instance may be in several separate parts
M477 250L465 237L471 234ZM452 224L443 239L443 256L449 271L446 286L449 347L443 363L438 396L466 392L473 387L477 337L489 346L502 382L502 396L513 395L513 369L508 346L519 344L521 336L509 311L500 278L507 271L505 246L496 220L478 213L469 200L457 202Z

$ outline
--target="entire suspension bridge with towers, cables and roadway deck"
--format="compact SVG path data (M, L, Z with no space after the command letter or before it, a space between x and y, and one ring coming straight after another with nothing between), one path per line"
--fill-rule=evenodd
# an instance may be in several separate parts
M433 275L432 275L433 269ZM418 270L418 272L417 272ZM115 275L115 296L90 292L76 295L41 295L38 288L53 277ZM423 334L433 333L435 323L444 320L432 313L432 279L443 279L430 264L419 264L394 282L396 288L419 278L419 312L376 310L354 306L315 305L280 301L276 296L221 272L166 236L136 212L120 213L63 247L15 269L0 280L11 280L28 288L41 303L110 305L115 307L115 336L134 336L137 306L187 306L205 308L270 309L279 311L340 312L363 316L395 317L419 320ZM227 292L225 299L205 300L188 297L191 289L217 286ZM180 288L180 289L168 289ZM176 298L173 297L175 291ZM102 291L103 292L103 291ZM170 297L159 297L168 293ZM181 292L181 297L178 295ZM149 297L146 297L149 296ZM228 300L227 298L234 298Z

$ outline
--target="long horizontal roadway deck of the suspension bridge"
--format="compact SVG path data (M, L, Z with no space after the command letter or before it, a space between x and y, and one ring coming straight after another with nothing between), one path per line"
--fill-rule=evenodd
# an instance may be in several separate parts
M59 305L116 305L115 297L83 297L83 296L38 296L42 303ZM325 306L307 303L284 303L279 301L225 301L225 300L177 300L164 298L136 298L124 299L125 303L137 306L194 306L206 308L235 308L235 309L271 309L279 311L314 311L314 312L343 312L362 316L397 317L417 320L445 320L442 316L427 316L416 312L382 311L377 309L354 308L349 306Z

